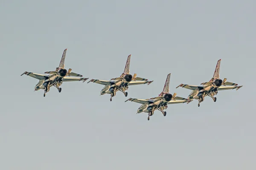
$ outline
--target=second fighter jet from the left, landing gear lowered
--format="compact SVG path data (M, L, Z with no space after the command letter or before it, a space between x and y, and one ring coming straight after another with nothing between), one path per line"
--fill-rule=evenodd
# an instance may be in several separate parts
M125 64L125 70L120 77L113 78L110 81L91 79L89 82L96 82L100 85L104 85L104 88L102 88L100 95L110 94L111 95L110 101L112 101L113 96L116 96L117 91L121 91L126 97L128 93L125 91L128 90L128 86L130 85L140 85L140 84L149 85L151 82L153 82L153 81L148 81L148 79L136 77L137 74L134 74L134 76L132 76L129 70L130 60L131 60L131 55L128 56Z

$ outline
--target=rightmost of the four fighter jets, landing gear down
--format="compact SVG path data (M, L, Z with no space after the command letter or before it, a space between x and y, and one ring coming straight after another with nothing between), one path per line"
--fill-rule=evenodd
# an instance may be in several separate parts
M201 83L201 86L196 85L185 85L180 84L178 87L187 88L189 90L192 90L192 93L188 96L188 102L191 102L193 99L198 99L198 107L200 106L200 103L204 101L205 96L210 96L214 102L216 102L216 97L214 97L216 94L218 94L218 91L222 90L229 90L229 89L236 89L238 90L242 86L238 86L238 84L233 82L227 82L227 79L220 79L219 71L220 71L220 65L221 65L221 59L218 60L214 74L212 79L210 79L209 82L203 82Z

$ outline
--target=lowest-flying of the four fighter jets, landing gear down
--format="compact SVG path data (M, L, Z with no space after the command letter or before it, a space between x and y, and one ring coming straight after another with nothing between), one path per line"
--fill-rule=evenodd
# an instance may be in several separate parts
M164 110L168 108L167 105L187 102L187 99L176 96L177 95L176 93L174 93L173 95L169 94L170 75L171 74L167 75L166 82L163 87L163 91L161 94L159 94L159 96L151 99L130 98L125 102L131 101L131 102L137 102L142 104L140 108L137 110L137 113L142 113L142 112L148 113L148 120L149 120L149 116L152 116L154 114L154 111L156 110L162 112L163 116L166 116L166 111Z

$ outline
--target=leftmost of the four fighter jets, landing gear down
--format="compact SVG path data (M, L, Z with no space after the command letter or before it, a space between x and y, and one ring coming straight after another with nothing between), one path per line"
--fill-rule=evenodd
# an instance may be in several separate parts
M76 78L76 77L83 77L83 76L80 74L71 72L72 70L71 68L68 71L64 68L66 51L67 49L64 50L61 57L60 65L56 68L56 70L45 72L46 74L49 74L49 75L36 74L32 72L27 72L27 71L23 73L23 74L26 74L27 76L30 76L39 80L39 82L35 85L35 91L44 89L44 97L45 97L45 94L50 90L50 87L52 86L57 88L58 92L61 93L60 86L62 82L71 82L71 81L85 82L88 79L88 78ZM20 76L22 76L23 74L21 74ZM70 77L70 76L73 76L73 77Z

